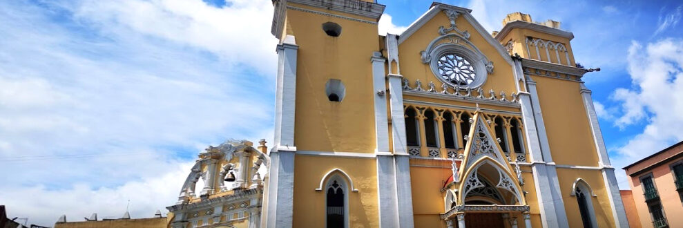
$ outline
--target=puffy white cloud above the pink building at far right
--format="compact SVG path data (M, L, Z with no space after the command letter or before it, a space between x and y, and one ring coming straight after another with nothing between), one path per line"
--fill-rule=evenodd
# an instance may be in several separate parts
M664 39L646 47L633 42L628 50L628 73L633 88L619 88L619 126L645 120L646 126L624 146L614 149L615 167L622 168L683 140L683 40ZM619 172L617 172L619 173ZM621 178L625 178L620 174ZM625 179L620 180L625 187Z

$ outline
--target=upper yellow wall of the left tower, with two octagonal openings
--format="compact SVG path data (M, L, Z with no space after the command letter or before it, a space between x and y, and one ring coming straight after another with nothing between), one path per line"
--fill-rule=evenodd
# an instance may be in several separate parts
M294 128L297 149L374 153L370 57L380 49L377 26L297 10L287 10L287 21L291 28L288 32L299 46ZM325 34L322 24L328 21L342 27L339 37ZM342 102L327 99L328 79L340 79L345 85Z

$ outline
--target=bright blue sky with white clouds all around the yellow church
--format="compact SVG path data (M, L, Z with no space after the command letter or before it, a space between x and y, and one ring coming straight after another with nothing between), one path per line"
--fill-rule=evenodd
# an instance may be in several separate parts
M561 21L620 168L683 140L683 3L443 1L489 31L509 12ZM400 32L431 1L387 5ZM271 1L0 1L0 204L52 225L152 216L196 153L272 137Z

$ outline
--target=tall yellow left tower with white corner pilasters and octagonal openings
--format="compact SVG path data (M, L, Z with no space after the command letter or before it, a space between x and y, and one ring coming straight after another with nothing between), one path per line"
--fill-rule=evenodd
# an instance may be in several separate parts
M378 227L375 158L390 153L377 28L385 6L360 0L274 0L273 6L271 33L280 44L262 224L349 227L349 218L363 218ZM325 202L328 190L345 201Z

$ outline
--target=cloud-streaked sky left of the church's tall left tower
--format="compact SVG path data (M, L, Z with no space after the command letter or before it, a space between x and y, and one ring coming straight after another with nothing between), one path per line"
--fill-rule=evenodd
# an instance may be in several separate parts
M0 1L10 216L121 216L128 199L152 216L206 145L271 137L271 15L270 1Z

